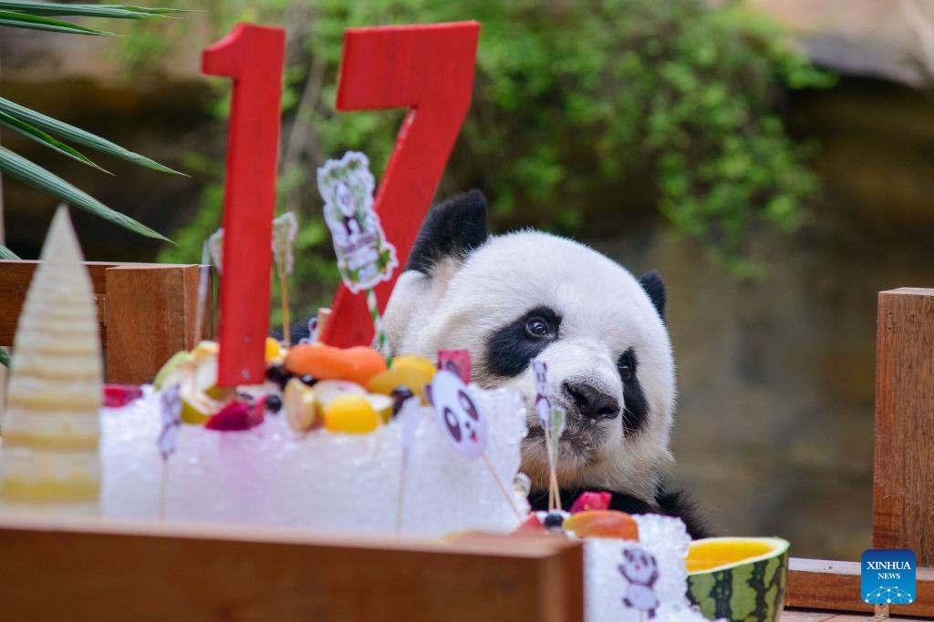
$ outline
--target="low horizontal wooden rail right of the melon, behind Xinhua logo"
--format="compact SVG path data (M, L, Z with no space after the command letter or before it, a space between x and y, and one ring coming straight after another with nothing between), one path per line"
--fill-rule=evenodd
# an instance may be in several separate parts
M892 615L934 617L934 568L918 568L916 578L917 600L891 605ZM873 613L875 605L861 601L860 591L858 561L788 561L785 604L789 607Z

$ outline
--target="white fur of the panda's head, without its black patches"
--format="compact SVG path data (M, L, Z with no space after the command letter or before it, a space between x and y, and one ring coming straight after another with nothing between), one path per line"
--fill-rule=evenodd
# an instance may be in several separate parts
M540 358L548 365L553 399L569 411L566 435L600 426L595 446L576 450L561 444L562 488L604 488L646 501L672 455L669 435L674 410L674 363L665 325L635 278L616 262L582 244L536 231L492 237L462 264L448 257L431 276L404 272L389 299L384 321L396 353L434 358L438 350L471 352L474 380L509 386L525 395L530 428L538 426L531 369L516 378L492 375L484 361L488 337L536 306L562 317L559 339ZM620 418L595 422L575 416L562 403L566 379L586 379L623 403L616 359L628 348L638 359L637 375L649 414L636 435L623 435ZM625 404L623 404L625 408ZM523 470L535 488L546 488L541 436L523 446Z

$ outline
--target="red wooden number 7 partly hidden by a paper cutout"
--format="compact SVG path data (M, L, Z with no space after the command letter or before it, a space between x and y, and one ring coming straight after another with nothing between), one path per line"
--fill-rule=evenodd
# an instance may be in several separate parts
M479 34L479 23L462 21L354 28L344 37L337 108L409 109L375 198L374 209L400 264L390 281L375 288L380 311L412 250L467 116ZM340 347L369 345L373 322L364 297L353 296L342 284L321 338Z

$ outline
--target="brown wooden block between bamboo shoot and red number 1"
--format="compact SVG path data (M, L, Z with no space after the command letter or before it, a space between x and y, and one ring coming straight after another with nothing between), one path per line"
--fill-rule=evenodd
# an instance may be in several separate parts
M149 382L170 356L194 344L197 266L106 270L107 380Z

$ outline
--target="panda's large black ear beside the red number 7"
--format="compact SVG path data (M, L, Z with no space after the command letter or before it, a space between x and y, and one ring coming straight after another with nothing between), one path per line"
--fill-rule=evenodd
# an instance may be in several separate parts
M405 270L430 274L438 261L462 261L488 238L487 200L471 190L432 207L418 231Z

